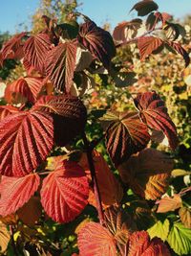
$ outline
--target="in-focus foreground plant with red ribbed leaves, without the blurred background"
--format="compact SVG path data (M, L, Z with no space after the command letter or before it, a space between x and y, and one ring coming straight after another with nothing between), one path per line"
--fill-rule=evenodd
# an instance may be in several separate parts
M125 64L112 61L117 48L138 42L144 60L167 46L189 64L187 52L176 41L179 26L169 21L169 14L158 12L158 5L151 0L140 1L133 10L140 16L148 14L143 35L138 35L140 19L119 24L113 40L109 32L81 13L75 13L84 19L77 26L57 24L44 15L45 27L40 33L14 35L0 51L1 65L6 59L20 59L27 73L7 85L7 105L0 106L2 251L11 236L13 253L16 241L41 255L62 250L63 255L71 255L74 251L65 251L62 236L54 238L59 241L57 246L40 234L45 230L42 222L51 218L65 228L69 221L80 222L75 233L83 256L171 255L169 247L179 255L191 252L190 209L181 199L190 189L162 197L174 163L168 154L148 146L153 140L159 142L161 136L173 151L178 146L177 129L159 94L140 92L129 109L105 109L98 121L104 136L99 134L92 141L86 137L93 121L86 101L91 81L97 74L107 73L111 81L121 84L121 73L130 75L124 72ZM162 33L169 36L169 30L171 36L161 39ZM154 34L156 31L160 34ZM83 141L81 151L73 151L76 137ZM111 166L95 150L103 137ZM95 208L90 205L96 207L100 223L95 222ZM162 213L177 209L180 220L163 218ZM29 212L30 219L26 218ZM20 223L26 226L21 228ZM27 227L33 225L40 226L40 231L33 228L30 233ZM58 235L59 228L53 227ZM19 232L17 239L13 232Z

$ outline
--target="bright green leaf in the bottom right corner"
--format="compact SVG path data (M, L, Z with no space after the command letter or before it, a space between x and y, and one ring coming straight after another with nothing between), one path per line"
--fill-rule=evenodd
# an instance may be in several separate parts
M191 229L184 227L180 222L175 222L167 242L177 254L191 254Z

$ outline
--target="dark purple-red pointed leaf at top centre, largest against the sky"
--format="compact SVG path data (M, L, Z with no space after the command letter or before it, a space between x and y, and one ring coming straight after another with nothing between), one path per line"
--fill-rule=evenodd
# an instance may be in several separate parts
M95 22L89 20L80 26L77 39L106 68L110 66L111 59L116 55L116 48L109 32L97 27Z

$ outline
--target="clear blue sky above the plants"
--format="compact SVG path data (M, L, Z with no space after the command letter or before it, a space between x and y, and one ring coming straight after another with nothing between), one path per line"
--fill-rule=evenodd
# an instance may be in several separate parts
M105 22L114 28L118 22L136 17L136 12L129 10L138 0L79 0L83 5L79 12L92 18L97 25ZM160 12L169 12L181 18L191 14L191 0L156 0ZM25 24L30 29L30 16L39 6L40 0L0 0L0 32L19 30L19 24ZM20 27L20 29L23 29Z

